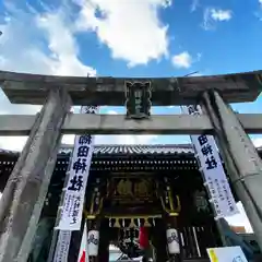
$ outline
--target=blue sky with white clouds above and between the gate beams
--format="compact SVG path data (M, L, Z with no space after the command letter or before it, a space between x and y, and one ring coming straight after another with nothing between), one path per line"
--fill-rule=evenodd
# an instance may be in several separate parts
M261 69L262 0L0 0L0 70L105 76L243 72ZM261 112L261 104L260 97L233 107ZM0 92L0 114L37 110L11 105ZM100 111L124 114L124 108ZM262 145L261 135L252 139ZM21 150L25 140L0 138L0 147ZM72 141L73 135L63 139ZM187 135L97 138L97 143L189 142Z

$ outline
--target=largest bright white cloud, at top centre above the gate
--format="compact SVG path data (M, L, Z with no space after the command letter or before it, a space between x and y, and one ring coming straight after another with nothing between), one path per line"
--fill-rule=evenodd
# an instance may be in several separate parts
M158 10L169 7L170 0L74 2L81 7L76 29L96 32L112 58L133 67L168 56L168 25L160 22Z

